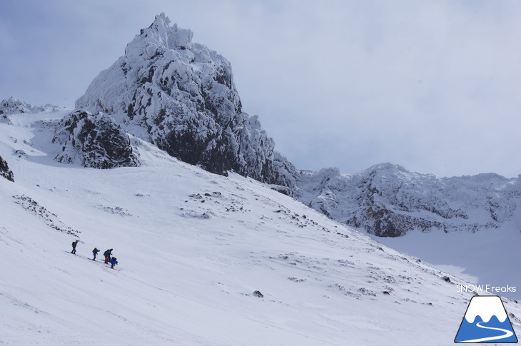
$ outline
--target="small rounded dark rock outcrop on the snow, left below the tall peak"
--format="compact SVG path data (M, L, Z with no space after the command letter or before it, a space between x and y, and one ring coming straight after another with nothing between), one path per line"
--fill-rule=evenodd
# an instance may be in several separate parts
M103 169L140 165L128 134L103 113L71 113L58 123L53 143L63 146L55 158L61 163Z

